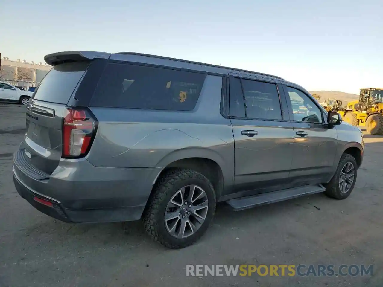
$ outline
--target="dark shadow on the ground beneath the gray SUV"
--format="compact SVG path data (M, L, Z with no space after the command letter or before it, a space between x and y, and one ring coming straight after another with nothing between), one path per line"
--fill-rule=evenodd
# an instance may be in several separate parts
M332 201L323 194L291 199L289 201L263 205L252 209L234 211L225 202L219 202L216 207L214 218L205 236L196 244L214 244L219 238L224 238L229 233L235 234L236 230L246 230L249 225L257 222L265 222L271 218L284 217L285 212L297 208L309 209L310 212L318 212L316 205ZM57 243L72 245L78 252L85 250L97 250L100 248L124 248L126 250L140 250L147 253L149 250L167 252L170 249L159 245L146 234L141 221L114 222L114 223L64 223L51 219L46 215L43 222L25 230L29 240L41 241L45 239L45 248L57 249ZM250 227L251 228L251 227ZM235 237L234 237L235 238Z

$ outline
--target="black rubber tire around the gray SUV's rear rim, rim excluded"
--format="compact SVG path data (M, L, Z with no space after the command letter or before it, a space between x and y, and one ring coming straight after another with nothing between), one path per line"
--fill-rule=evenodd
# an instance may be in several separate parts
M165 227L164 215L168 202L172 196L182 187L195 184L204 189L208 198L208 211L201 227L186 238L175 238L169 234ZM151 237L171 249L180 249L195 243L205 234L216 207L216 195L210 181L201 173L188 169L171 170L164 174L155 184L154 190L149 197L143 222L146 232Z

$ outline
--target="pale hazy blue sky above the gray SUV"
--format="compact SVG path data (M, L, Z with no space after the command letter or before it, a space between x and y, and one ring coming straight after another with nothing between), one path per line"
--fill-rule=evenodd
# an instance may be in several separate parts
M382 0L1 1L2 57L133 51L272 73L308 90L383 86Z

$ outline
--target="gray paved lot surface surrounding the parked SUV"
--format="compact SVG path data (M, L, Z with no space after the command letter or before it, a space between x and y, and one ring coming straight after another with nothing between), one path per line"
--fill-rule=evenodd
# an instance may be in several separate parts
M25 107L0 104L0 286L381 286L383 137L365 135L355 189L241 212L217 207L198 243L152 241L140 222L70 224L41 214L12 181ZM272 159L270 159L272 160ZM373 265L373 276L186 276L187 264Z

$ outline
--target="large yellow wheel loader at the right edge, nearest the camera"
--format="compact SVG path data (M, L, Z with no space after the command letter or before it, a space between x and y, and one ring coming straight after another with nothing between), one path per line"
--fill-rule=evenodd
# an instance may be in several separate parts
M347 103L338 113L353 126L365 126L370 134L383 135L383 89L360 89L359 100Z

